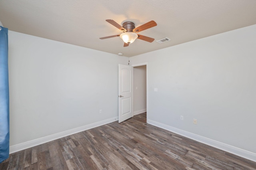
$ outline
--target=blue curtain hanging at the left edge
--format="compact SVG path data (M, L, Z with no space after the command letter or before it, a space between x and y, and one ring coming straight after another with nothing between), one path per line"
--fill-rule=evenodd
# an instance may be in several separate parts
M9 157L8 28L0 26L0 163Z

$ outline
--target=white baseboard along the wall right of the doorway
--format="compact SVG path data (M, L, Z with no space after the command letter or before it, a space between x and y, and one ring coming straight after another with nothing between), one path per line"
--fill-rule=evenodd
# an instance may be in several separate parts
M190 132L178 129L178 128L174 128L174 127L171 127L169 125L164 125L164 124L158 123L156 121L148 120L148 123L150 125L154 125L156 127L160 127L160 128L169 130L169 131L174 132L176 134L180 134L180 135L185 136L187 138L190 138L190 139L196 140L198 142L210 145L214 148L218 148L218 149L224 150L226 152L229 152L229 153L235 154L237 156L240 156L240 157L243 157L243 158L246 158L248 160L252 160L252 161L256 162L256 153L253 153L253 152L250 152L250 151L247 151L247 150L243 150L241 148L237 148L235 146L231 146L231 145L228 145L228 144L225 144L225 143L222 143L222 142L218 142L216 140L212 140L212 139L209 139L209 138L206 138L206 137L203 137L203 136L199 136L197 134L193 134L193 133L190 133Z

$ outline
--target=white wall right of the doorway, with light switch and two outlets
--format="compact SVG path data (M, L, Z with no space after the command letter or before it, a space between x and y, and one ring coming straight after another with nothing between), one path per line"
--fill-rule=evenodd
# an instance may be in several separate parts
M151 122L252 152L256 160L256 25L130 61L148 62Z

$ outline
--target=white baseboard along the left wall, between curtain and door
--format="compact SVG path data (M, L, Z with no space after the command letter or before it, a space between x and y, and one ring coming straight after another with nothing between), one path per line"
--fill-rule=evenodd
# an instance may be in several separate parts
M71 135L71 134L82 132L82 131L88 130L90 128L95 128L95 127L99 127L101 125L106 125L108 123L111 123L111 122L114 122L114 121L117 121L117 120L118 120L118 117L113 117L113 118L110 118L110 119L106 119L104 121L99 121L99 122L96 122L96 123L92 123L92 124L85 125L85 126L78 127L78 128L73 128L73 129L70 129L70 130L66 130L64 132L52 134L52 135L45 136L45 137L42 137L42 138L38 138L38 139L35 139L35 140L30 140L28 142L24 142L24 143L21 143L21 144L16 144L16 145L10 146L10 154L12 154L14 152L18 152L20 150L31 148L33 146L37 146L39 144L50 142L52 140L56 140L56 139L59 139L59 138L62 138L62 137L65 137L65 136L68 136L68 135Z

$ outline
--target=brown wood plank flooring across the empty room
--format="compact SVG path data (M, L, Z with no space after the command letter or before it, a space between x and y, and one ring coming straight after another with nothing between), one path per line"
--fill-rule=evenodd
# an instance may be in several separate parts
M256 162L146 123L146 113L10 154L0 170L256 170Z

